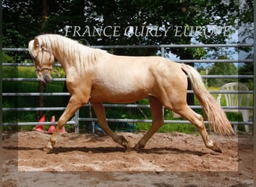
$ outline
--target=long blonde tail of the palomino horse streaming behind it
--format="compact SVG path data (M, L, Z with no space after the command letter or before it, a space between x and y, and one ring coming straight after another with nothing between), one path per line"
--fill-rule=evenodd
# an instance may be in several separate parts
M189 65L180 64L180 67L189 76L192 89L203 106L204 112L207 115L208 121L210 126L213 127L213 130L215 132L219 132L220 135L235 135L234 129L228 121L225 112L216 102L216 99L214 99L214 97L205 88L200 74Z

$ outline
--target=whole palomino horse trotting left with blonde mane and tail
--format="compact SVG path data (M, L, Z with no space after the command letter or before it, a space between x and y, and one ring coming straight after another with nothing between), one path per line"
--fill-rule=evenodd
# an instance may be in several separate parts
M109 129L103 102L127 103L148 97L153 123L146 135L135 145L135 150L144 147L162 126L162 106L165 106L193 123L201 133L206 147L221 153L218 144L207 135L203 117L192 111L186 103L186 74L213 129L221 135L234 135L222 108L204 87L200 74L189 65L177 64L161 57L112 55L57 34L37 36L29 42L28 48L38 79L45 83L52 80L51 70L56 59L64 68L67 89L71 95L67 108L58 120L57 128L44 150L52 150L59 130L87 102L91 102L104 131L128 149L128 141L124 136L116 135Z

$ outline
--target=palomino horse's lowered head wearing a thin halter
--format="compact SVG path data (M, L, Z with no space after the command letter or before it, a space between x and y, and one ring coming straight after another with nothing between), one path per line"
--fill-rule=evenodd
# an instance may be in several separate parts
M28 43L28 50L34 61L37 78L44 83L51 82L51 71L54 64L52 49L48 49L46 43L35 37Z

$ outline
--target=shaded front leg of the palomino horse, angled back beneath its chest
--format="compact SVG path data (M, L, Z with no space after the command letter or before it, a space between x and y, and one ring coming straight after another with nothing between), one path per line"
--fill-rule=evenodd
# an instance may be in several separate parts
M126 149L129 148L129 143L126 138L122 135L116 135L114 132L112 132L112 129L109 128L108 123L106 121L106 114L103 107L102 102L91 102L92 107L94 108L95 114L97 116L97 119L100 123L100 126L103 128L103 130L111 136L111 138L120 144L121 146L125 147Z

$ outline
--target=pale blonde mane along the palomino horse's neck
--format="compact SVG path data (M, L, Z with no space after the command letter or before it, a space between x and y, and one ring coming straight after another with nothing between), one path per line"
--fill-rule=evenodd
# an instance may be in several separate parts
M93 49L78 43L76 40L58 34L43 34L37 36L40 46L44 46L55 58L64 59L64 63L73 64L81 73L91 64L96 64L99 58L109 53L102 49ZM61 62L60 62L61 63Z

